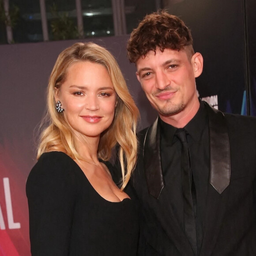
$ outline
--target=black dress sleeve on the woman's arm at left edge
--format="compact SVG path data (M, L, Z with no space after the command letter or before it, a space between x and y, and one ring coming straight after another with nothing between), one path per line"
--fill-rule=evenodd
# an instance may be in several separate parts
M32 256L69 255L77 184L72 159L45 153L26 182Z

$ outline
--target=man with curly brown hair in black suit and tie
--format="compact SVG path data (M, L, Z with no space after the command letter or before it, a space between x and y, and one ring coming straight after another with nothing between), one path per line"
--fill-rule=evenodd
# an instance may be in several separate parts
M203 57L177 16L147 15L131 34L128 58L159 114L139 134L130 182L141 207L139 253L256 255L256 118L197 98Z

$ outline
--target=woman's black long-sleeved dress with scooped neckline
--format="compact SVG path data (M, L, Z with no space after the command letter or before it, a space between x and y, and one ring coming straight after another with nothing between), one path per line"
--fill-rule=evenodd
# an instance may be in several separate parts
M32 256L136 256L139 224L132 200L102 198L63 152L41 155L26 195Z

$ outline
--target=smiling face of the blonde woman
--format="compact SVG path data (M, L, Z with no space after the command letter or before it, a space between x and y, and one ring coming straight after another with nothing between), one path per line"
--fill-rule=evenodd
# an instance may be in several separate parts
M80 61L68 68L55 100L61 102L64 118L75 131L97 137L113 121L117 96L103 65Z

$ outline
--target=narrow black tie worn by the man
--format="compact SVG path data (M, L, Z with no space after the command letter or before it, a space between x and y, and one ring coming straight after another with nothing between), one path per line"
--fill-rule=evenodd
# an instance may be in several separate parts
M177 129L176 136L181 141L181 181L184 204L184 230L195 255L197 255L196 219L193 205L193 199L196 200L196 196L195 194L192 195L192 190L195 192L195 189L194 182L192 181L190 153L185 130Z

